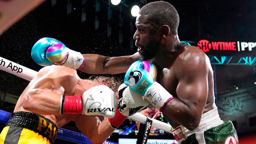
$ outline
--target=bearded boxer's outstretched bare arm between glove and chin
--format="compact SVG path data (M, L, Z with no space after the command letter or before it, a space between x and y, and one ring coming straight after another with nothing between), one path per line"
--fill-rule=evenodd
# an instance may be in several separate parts
M96 54L83 54L85 59L80 71L89 74L125 73L129 66L139 59L138 54L131 56L106 57Z

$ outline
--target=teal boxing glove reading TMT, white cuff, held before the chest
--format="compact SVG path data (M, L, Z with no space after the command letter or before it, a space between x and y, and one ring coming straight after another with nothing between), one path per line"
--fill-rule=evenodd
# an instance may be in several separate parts
M126 72L124 83L147 99L152 106L162 111L162 108L174 97L156 82L156 77L155 65L147 61L136 61Z

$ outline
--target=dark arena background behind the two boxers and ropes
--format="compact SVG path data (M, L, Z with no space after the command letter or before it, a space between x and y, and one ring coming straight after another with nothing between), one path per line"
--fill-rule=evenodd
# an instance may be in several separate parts
M8 3L15 0L1 1ZM131 55L137 51L132 39L136 29L135 17L130 14L131 7L134 4L142 7L151 1L153 0L122 0L117 6L108 0L43 1L0 35L0 56L38 71L42 67L32 60L30 52L33 44L43 37L58 39L70 49L83 54ZM202 42L200 40L207 40L209 43L256 42L254 0L168 2L179 13L178 35L183 43L198 46ZM9 11L15 12L15 9L12 7ZM1 9L0 13L3 13ZM213 58L211 63L215 74L216 104L221 118L233 122L238 132L239 143L256 143L256 47L252 45L251 50L245 47L244 51L238 51L237 47L233 51L213 50L207 47L209 51L206 54ZM231 57L233 59L230 59ZM82 78L91 76L80 71L78 73ZM12 112L19 95L29 81L2 70L0 74L0 109ZM124 74L113 76L122 80ZM133 121L127 120L120 129L133 124ZM1 129L3 127L4 124L1 124ZM77 131L72 122L64 128ZM120 137L136 138L136 134L114 133L109 140L118 142ZM150 138L174 139L166 133L152 134ZM69 142L57 140L56 143Z

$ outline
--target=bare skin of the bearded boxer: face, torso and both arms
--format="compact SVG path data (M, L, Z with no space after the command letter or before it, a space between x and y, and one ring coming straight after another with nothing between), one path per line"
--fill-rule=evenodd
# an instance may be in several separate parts
M131 56L105 57L84 54L80 69L91 74L125 73L137 60L157 67L157 82L175 98L164 108L163 115L172 127L183 125L194 130L201 115L215 108L213 71L209 58L199 48L180 43L177 29L168 25L156 29L147 15L139 15L133 36L138 52Z

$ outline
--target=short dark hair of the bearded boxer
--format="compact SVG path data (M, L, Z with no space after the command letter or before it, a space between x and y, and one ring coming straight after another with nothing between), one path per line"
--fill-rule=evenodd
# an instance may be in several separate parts
M147 20L155 27L168 25L172 34L176 35L179 26L179 14L168 2L156 1L144 5L139 14L147 15Z

